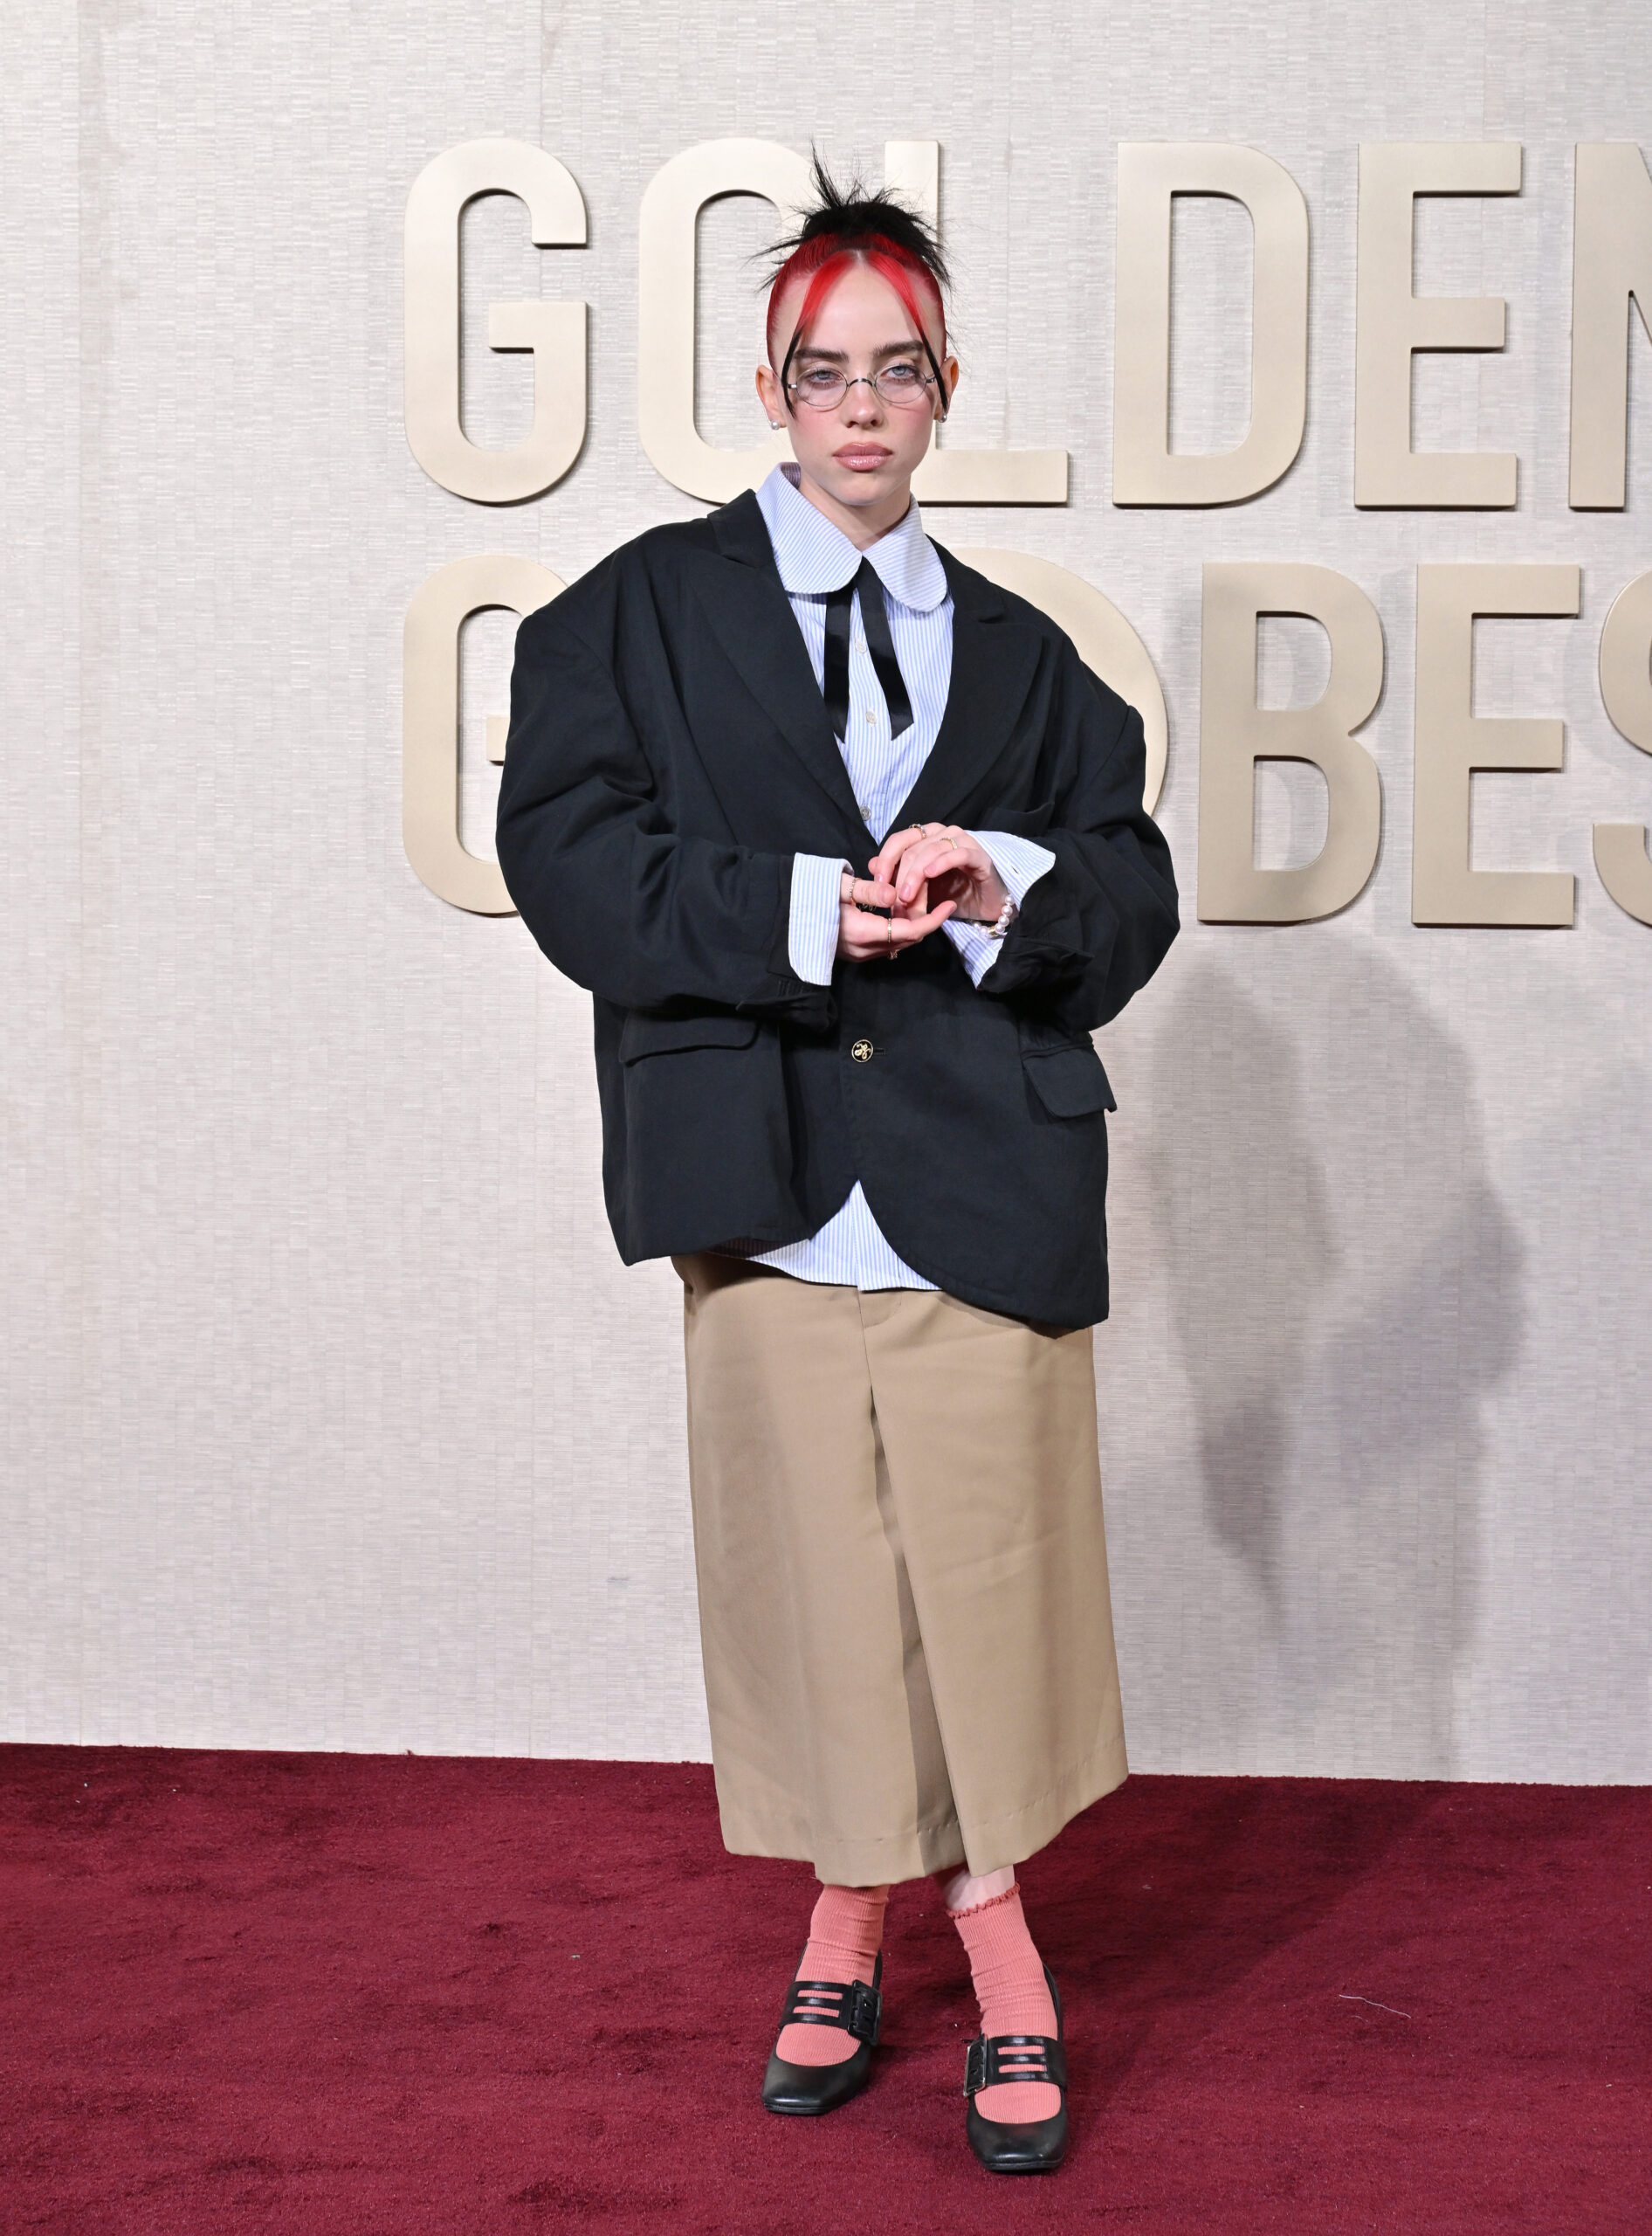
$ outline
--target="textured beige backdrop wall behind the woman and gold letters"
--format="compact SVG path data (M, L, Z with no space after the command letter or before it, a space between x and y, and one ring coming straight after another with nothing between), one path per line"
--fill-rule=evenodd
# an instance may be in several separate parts
M816 18L816 20L809 20ZM959 440L1066 443L1064 512L930 525L1064 561L1171 707L1191 892L1203 559L1379 604L1364 899L1187 926L1104 1035L1118 1308L1098 1337L1140 1769L1643 1780L1652 930L1589 868L1652 767L1594 686L1652 563L1565 510L1569 148L1652 139L1630 0L11 0L4 329L4 1659L25 1740L693 1755L677 1301L597 1187L586 999L400 847L400 624L440 561L572 577L695 508L635 429L637 201L702 139L874 172L943 148ZM438 150L539 141L590 246L467 217L472 302L592 304L586 452L539 503L436 490L400 425L400 215ZM1263 499L1107 501L1118 139L1232 139L1312 210L1308 440ZM1504 517L1355 514L1355 150L1518 139L1525 195L1426 203L1420 284L1509 297L1433 358L1420 443L1516 449ZM758 203L704 226L704 432L753 432ZM1247 226L1178 219L1176 429L1245 420ZM523 425L490 358L469 425ZM1482 711L1569 716L1480 778L1478 859L1578 870L1572 932L1408 923L1417 559L1578 559L1578 624L1482 624ZM507 628L472 624L467 832ZM1314 631L1274 624L1279 702ZM1314 847L1270 783L1268 859ZM1191 910L1189 910L1191 912Z

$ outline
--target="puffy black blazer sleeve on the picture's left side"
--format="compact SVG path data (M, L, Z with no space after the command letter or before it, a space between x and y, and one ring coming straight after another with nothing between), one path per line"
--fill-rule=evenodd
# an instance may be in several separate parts
M624 1008L829 1022L829 988L791 970L791 854L673 827L610 664L559 608L523 622L510 680L499 868L523 923Z

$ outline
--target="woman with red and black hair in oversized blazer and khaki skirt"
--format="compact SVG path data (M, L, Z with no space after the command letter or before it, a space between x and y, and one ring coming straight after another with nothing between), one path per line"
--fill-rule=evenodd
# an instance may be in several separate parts
M1176 885L1140 718L912 503L959 378L934 237L816 190L758 367L794 463L521 626L499 859L595 995L621 1257L684 1281L722 1834L823 1880L762 2100L865 2086L887 1889L939 1874L968 2140L1044 2171L1062 2015L1015 1865L1124 1778L1089 1035Z

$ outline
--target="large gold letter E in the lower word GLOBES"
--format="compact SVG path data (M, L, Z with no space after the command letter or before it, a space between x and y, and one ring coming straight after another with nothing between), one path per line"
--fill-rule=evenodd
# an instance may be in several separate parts
M1473 711L1478 613L1578 610L1574 566L1417 568L1417 738L1411 827L1413 923L1572 923L1569 870L1475 870L1469 785L1475 769L1558 769L1565 722L1513 722Z

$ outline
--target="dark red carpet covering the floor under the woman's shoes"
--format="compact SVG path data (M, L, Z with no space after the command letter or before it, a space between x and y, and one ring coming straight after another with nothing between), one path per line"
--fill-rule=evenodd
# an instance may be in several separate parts
M0 2225L423 2236L1652 2229L1652 1793L1136 1778L1024 1872L1073 2153L979 2173L952 1930L756 2100L811 1880L711 1773L0 1749Z

